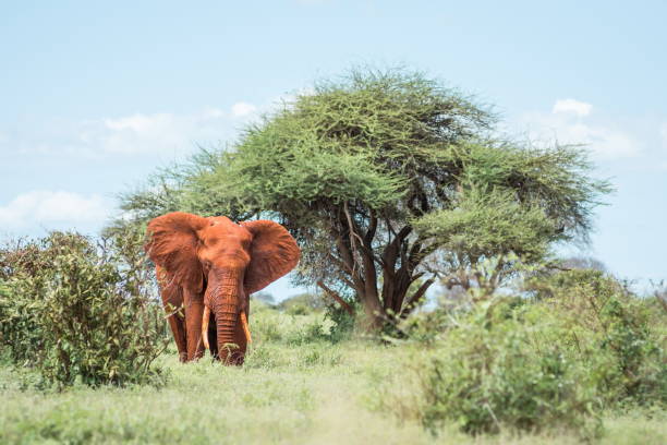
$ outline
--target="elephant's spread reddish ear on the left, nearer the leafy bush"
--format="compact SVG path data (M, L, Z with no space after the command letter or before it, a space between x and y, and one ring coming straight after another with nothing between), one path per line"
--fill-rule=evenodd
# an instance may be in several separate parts
M204 272L197 257L197 230L206 226L206 218L172 212L151 219L146 228L148 242L144 249L150 260L165 268L177 284L196 292L204 287Z

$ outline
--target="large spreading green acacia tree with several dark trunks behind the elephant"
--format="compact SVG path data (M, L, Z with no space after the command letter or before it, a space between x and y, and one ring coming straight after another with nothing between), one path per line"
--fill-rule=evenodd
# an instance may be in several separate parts
M603 181L579 147L493 136L495 117L421 73L353 71L247 128L231 148L126 194L138 219L163 211L272 217L302 248L296 282L404 315L453 268L585 238ZM419 286L417 286L419 285Z

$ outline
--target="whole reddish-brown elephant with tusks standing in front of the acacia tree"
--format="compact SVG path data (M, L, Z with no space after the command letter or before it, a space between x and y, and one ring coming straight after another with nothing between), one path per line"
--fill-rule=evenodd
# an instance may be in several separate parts
M294 238L271 220L235 224L182 212L151 219L146 236L180 360L209 349L226 364L242 364L252 341L250 294L296 266ZM184 316L174 313L181 306Z

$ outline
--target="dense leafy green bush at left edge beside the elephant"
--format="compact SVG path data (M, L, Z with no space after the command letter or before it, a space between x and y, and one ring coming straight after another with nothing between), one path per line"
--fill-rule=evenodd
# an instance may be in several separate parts
M52 232L0 249L0 345L41 384L161 382L167 345L150 269L129 232L96 243Z

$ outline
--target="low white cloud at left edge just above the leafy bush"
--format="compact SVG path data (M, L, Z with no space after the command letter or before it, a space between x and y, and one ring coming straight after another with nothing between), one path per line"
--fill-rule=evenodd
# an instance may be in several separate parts
M82 195L65 191L36 190L0 205L2 229L31 229L53 224L69 226L101 224L110 204L98 194Z

